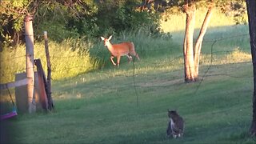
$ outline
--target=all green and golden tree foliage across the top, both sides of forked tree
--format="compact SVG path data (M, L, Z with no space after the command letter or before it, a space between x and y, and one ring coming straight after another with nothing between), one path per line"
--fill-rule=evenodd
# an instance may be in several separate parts
M170 14L182 14L183 0L2 0L0 1L0 47L24 42L23 19L34 15L36 40L47 30L50 38L98 38L125 30L150 30L161 34L160 20ZM205 7L206 0L197 1ZM243 0L216 0L223 13L239 23L246 22Z

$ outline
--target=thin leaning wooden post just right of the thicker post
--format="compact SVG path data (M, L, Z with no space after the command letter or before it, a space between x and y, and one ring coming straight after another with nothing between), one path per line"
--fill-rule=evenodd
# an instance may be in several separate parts
M47 82L46 82L46 94L48 97L48 108L51 110L54 108L53 100L51 98L51 66L50 66L50 54L49 54L49 46L48 46L48 37L47 31L43 33L45 38L45 49L46 49L46 62L47 62Z

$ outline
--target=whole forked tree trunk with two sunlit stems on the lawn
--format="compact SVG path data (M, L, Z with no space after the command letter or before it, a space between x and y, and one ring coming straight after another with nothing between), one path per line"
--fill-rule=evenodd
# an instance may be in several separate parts
M183 6L186 13L186 30L183 44L184 54L184 71L185 82L196 82L198 80L199 59L202 48L202 40L206 34L207 26L213 12L214 2L210 2L206 18L202 23L200 34L198 35L197 42L193 47L193 34L194 34L194 21L195 11L194 1L186 1L187 4ZM190 3L190 4L189 4Z

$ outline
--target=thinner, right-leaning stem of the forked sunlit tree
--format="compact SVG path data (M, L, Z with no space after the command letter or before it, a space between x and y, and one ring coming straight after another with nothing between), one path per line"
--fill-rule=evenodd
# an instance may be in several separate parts
M206 18L204 19L204 21L202 23L202 27L201 27L200 33L198 35L197 42L195 43L195 46L194 46L194 71L195 71L196 78L198 78L198 73L199 73L198 72L199 71L199 59L200 59L201 48L202 48L202 40L206 34L206 30L207 30L208 24L210 22L211 15L213 13L213 7L214 7L214 2L211 2L210 5L208 6Z

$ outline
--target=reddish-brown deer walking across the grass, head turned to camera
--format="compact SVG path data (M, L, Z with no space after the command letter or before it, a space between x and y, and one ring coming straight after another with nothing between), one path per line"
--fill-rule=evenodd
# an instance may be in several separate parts
M112 45L110 43L110 39L112 38L112 35L110 35L110 38L103 38L103 37L101 38L102 38L102 41L104 41L104 45L107 47L108 50L110 50L110 53L111 53L110 60L114 66L117 65L113 61L114 57L117 57L118 66L119 66L121 56L126 55L127 58L129 59L129 62L132 61L131 55L134 55L136 58L138 58L138 54L136 53L134 48L134 42L122 42L122 43Z

